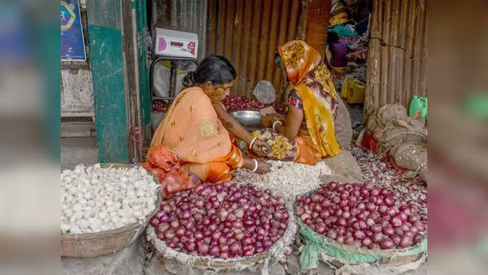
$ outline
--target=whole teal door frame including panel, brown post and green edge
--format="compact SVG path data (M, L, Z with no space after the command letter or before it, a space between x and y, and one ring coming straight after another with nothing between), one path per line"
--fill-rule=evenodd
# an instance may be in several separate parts
M146 0L87 0L96 140L101 163L142 161L142 149L149 142L146 13Z

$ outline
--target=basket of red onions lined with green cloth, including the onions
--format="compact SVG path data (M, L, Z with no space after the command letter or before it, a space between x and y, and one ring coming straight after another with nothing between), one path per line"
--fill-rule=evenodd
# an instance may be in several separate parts
M323 260L397 267L427 251L427 214L413 200L371 183L330 182L297 196L302 267ZM323 251L323 253L319 253Z

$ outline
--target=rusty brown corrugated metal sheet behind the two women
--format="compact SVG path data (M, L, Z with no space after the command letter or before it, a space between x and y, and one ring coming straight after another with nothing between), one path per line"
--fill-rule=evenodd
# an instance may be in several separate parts
M227 57L237 70L232 94L251 96L260 80L281 87L276 47L299 37L300 0L209 0L207 54Z

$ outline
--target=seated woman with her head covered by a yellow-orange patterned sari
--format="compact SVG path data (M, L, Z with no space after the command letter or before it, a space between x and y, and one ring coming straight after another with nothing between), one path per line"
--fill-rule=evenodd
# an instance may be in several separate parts
M315 164L341 151L334 135L337 94L332 77L320 54L302 40L291 40L278 47L277 66L286 71L292 90L286 117L262 117L265 128L251 133L267 142L268 158Z

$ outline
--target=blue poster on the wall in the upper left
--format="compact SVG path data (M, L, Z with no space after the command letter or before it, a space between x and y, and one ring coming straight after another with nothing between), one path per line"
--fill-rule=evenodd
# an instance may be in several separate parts
M61 60L87 60L78 0L61 1Z

